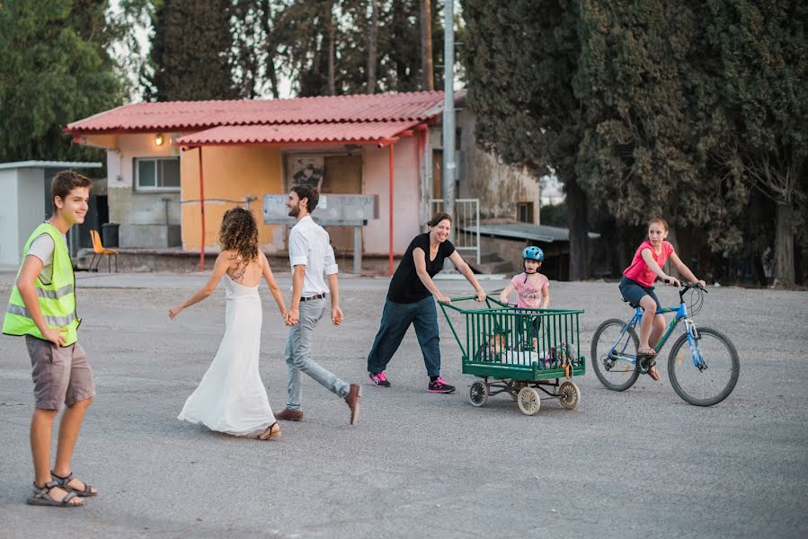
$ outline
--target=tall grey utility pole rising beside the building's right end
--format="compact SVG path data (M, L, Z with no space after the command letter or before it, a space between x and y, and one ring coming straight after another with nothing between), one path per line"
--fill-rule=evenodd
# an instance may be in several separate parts
M443 211L455 212L455 15L453 0L444 5L443 44ZM449 234L453 239L454 234Z

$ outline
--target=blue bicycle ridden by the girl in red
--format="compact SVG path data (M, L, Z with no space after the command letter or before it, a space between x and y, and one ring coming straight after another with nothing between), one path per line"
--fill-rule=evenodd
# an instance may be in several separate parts
M690 293L691 308L685 295ZM696 406L712 406L724 401L738 383L741 362L733 342L724 333L697 328L691 316L704 302L706 290L698 283L687 283L679 292L679 306L663 307L660 313L674 313L673 320L657 343L657 357L670 334L685 324L685 333L673 342L668 357L670 385L679 396ZM695 295L695 297L693 296ZM637 305L628 322L613 318L601 323L592 337L591 363L600 382L612 391L626 391L641 374L653 366L654 358L637 355L637 336L643 309Z

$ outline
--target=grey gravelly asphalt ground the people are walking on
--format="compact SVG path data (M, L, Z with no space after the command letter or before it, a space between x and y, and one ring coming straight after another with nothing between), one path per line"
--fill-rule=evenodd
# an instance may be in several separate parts
M4 297L12 280L0 276ZM466 401L475 379L460 375L442 317L443 374L457 393L424 391L412 331L388 368L393 388L371 386L365 358L387 281L345 278L345 323L321 322L314 354L363 383L360 424L349 426L344 402L306 379L306 419L282 423L280 441L259 442L176 420L224 331L221 288L168 321L168 307L203 280L80 278L80 334L98 395L74 470L102 491L87 508L24 504L30 364L22 340L0 338L0 536L808 535L808 293L710 288L696 322L724 331L741 357L734 393L715 407L679 399L664 365L659 382L641 376L625 393L606 390L588 366L576 379L578 410L547 401L528 417L505 394L482 409ZM288 274L279 280L288 290ZM440 287L470 292L462 281ZM552 307L585 310L588 360L598 324L630 314L616 283L553 282L551 291ZM286 331L263 298L261 374L280 411ZM676 298L661 290L663 303Z

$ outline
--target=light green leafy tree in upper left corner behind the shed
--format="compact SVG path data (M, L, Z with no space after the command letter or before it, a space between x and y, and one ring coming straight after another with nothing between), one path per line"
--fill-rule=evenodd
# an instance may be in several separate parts
M108 48L122 29L108 2L0 3L0 161L102 158L62 128L109 110L124 87Z

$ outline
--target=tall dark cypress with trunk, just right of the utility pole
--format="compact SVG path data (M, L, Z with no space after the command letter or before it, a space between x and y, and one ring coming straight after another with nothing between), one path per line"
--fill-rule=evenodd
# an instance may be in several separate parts
M588 203L576 170L583 103L573 91L577 2L462 2L468 105L478 144L506 163L555 172L569 207L570 278L586 278Z

